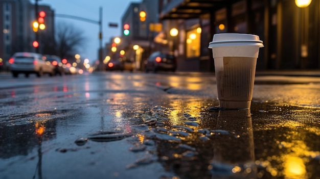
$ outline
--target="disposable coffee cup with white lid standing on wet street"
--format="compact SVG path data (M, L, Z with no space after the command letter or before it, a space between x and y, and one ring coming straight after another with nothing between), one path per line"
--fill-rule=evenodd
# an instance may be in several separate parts
M251 106L259 48L263 42L252 34L215 34L209 48L215 64L220 108Z

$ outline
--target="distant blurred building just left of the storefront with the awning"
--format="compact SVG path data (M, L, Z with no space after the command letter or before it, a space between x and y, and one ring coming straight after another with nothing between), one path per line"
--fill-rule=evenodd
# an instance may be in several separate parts
M135 64L136 70L144 70L144 61L155 50L156 43L154 37L159 32L159 12L161 10L159 0L144 0L141 3L131 3L125 10L121 19L121 42L115 44L115 37L105 44L104 56L107 59L119 58L122 61ZM144 12L146 17L141 18L140 13ZM154 27L157 27L157 30ZM150 28L151 27L151 28ZM124 30L129 28L129 34L125 34ZM116 52L112 51L112 47L116 46ZM125 54L120 55L120 51L124 50ZM107 63L107 60L104 61Z

